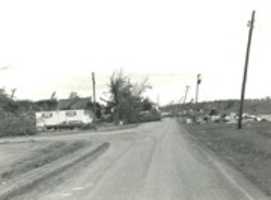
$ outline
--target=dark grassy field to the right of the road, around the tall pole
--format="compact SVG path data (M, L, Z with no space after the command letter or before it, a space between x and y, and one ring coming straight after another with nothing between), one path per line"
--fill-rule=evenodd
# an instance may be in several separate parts
M200 144L230 163L271 196L271 123L184 125Z

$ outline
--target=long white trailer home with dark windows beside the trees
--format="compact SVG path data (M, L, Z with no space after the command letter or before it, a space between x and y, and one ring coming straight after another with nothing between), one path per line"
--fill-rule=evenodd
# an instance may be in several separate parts
M93 122L93 112L90 110L55 110L36 112L36 127L50 128L76 128L84 127Z

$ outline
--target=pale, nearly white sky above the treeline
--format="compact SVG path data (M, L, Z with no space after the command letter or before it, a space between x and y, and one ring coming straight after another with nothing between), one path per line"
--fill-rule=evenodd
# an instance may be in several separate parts
M271 96L271 3L267 0L0 1L0 87L17 99L107 91L122 69L148 77L153 101L177 102L202 74L199 100L240 97L248 27L253 33L246 97Z

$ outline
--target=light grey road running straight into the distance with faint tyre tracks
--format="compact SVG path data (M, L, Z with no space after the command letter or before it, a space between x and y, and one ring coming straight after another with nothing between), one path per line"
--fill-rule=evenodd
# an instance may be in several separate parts
M95 162L86 160L14 199L266 199L236 171L199 148L174 120L146 123L127 134L92 137L111 143Z

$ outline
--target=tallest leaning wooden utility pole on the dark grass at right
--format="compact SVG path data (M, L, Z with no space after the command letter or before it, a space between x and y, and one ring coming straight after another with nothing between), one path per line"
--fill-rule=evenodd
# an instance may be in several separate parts
M248 71L248 64L249 64L249 54L250 54L252 33L253 33L253 28L254 28L254 21L255 21L255 10L252 11L251 20L248 22L249 32L248 32L246 60L245 60L244 75L243 75L242 90L241 90L240 109L239 109L239 118L238 118L238 129L242 128L244 98L245 98L246 82L247 82L247 71Z

